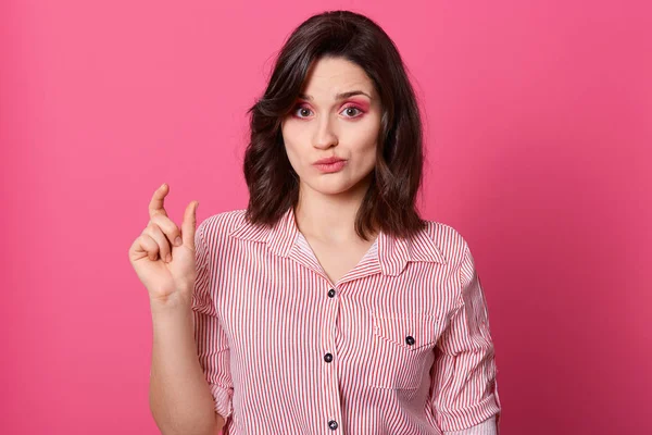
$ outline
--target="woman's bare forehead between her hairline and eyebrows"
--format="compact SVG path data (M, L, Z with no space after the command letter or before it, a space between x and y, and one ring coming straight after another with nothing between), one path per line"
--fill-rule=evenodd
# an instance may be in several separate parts
M311 65L302 94L328 100L349 90L375 95L374 83L362 67L341 58L322 58Z

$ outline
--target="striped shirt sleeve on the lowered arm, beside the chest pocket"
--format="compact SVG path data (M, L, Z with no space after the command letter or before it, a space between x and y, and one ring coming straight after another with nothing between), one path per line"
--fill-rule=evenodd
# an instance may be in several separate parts
M432 368L430 397L435 419L444 434L494 434L464 431L496 415L499 435L501 405L488 308L466 241L455 272L459 308L439 338Z

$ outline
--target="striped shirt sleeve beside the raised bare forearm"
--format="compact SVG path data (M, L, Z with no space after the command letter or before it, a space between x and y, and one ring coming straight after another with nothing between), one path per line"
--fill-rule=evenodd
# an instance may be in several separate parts
M229 368L228 339L217 316L213 279L214 262L205 243L206 221L195 233L195 260L197 276L192 293L195 341L199 363L215 400L215 411L226 419L233 412L233 381Z

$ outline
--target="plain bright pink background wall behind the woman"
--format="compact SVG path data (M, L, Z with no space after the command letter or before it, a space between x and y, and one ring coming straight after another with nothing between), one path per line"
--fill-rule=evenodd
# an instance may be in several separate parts
M178 224L244 208L244 112L294 26L340 8L414 80L423 214L476 258L503 435L652 433L652 10L532 3L0 2L0 433L158 433L127 258L150 197L167 182Z

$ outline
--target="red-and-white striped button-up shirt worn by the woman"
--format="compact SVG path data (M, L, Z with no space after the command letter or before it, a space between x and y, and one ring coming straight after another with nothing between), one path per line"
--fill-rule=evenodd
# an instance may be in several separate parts
M496 434L487 304L464 238L378 234L331 283L290 208L196 232L195 338L223 434Z

